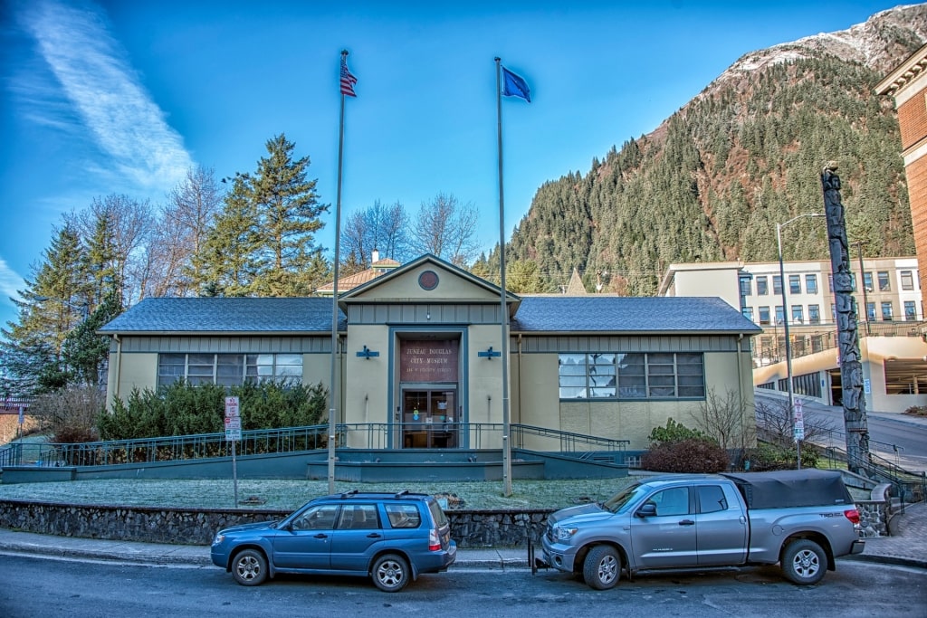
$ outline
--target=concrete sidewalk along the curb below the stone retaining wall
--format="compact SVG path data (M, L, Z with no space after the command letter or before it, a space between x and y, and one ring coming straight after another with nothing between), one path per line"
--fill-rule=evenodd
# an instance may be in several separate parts
M895 515L893 536L867 538L866 550L844 560L900 564L927 569L927 503L909 504ZM122 561L141 564L211 566L210 548L108 541L72 536L36 535L0 528L0 551L62 558ZM527 569L527 549L458 549L455 569Z

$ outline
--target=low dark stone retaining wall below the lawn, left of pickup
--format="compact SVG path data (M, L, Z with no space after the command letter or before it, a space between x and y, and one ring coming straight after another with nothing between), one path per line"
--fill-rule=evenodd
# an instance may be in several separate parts
M239 523L280 519L274 509L158 509L0 500L0 527L44 535L148 543L210 545L216 531ZM551 510L446 511L462 549L527 547L539 539Z

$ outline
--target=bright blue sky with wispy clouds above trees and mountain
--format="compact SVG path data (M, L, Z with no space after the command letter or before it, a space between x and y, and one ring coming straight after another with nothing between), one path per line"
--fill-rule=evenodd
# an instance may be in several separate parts
M331 204L338 61L349 50L343 217L410 214L439 193L499 241L495 63L532 102L502 100L506 236L542 183L651 132L743 54L844 30L891 2L0 3L0 323L62 213L124 194L153 205L190 166L253 171L281 132Z

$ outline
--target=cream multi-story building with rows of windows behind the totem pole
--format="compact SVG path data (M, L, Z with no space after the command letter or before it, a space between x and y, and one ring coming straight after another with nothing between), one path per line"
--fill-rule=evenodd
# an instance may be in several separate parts
M918 260L855 256L853 261L868 408L904 411L927 404L927 344ZM794 392L827 404L840 402L830 260L784 262L781 272L778 261L674 264L667 271L661 294L720 296L740 309L763 329L753 338L754 384L782 393L787 391L787 322Z

